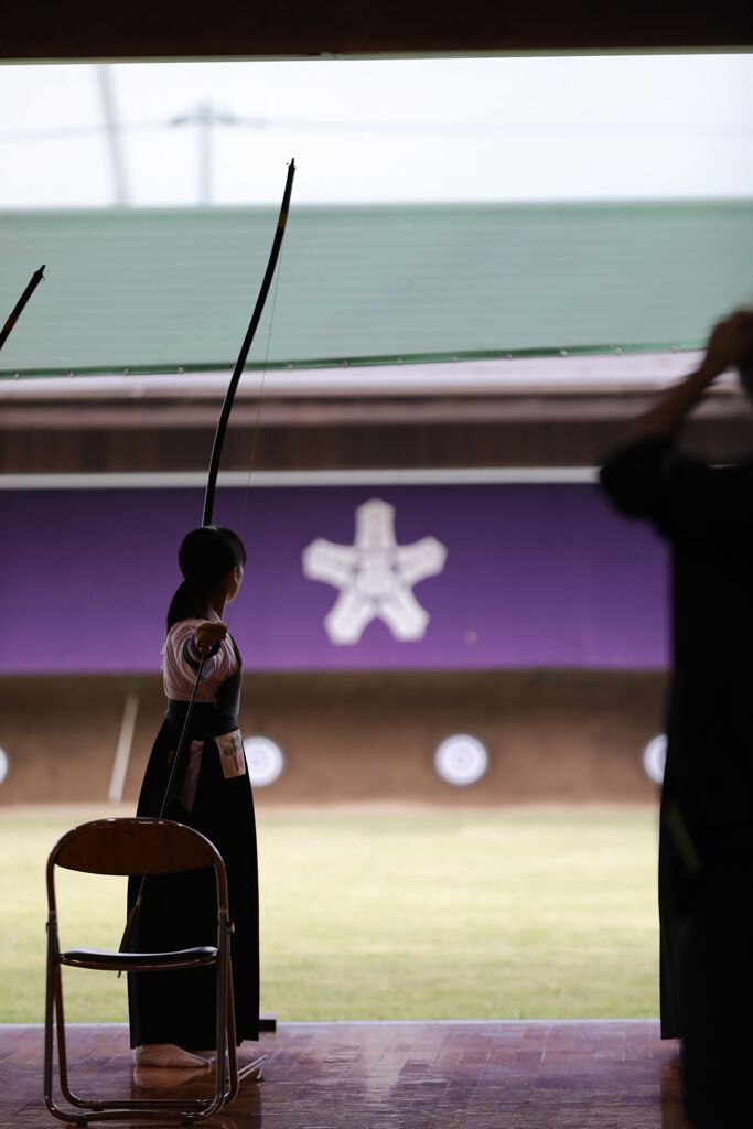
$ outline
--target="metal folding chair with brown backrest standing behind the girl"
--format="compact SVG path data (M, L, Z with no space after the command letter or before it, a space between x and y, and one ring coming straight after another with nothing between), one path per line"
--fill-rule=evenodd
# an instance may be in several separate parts
M103 953L91 949L60 952L55 867L87 874L155 875L176 874L212 866L217 879L217 945L168 953ZM149 881L148 877L146 881ZM44 1101L61 1121L86 1126L89 1121L173 1121L192 1123L218 1113L238 1093L238 1064L233 1006L230 933L225 864L204 835L168 820L97 820L69 831L52 849L47 861L47 984L44 1025ZM214 1094L198 1099L81 1097L68 1078L65 1019L63 1014L63 965L100 969L107 972L165 972L217 965L217 1064ZM53 1097L53 1029L58 1031L60 1089L73 1109L58 1105ZM244 1071L245 1073L245 1071Z

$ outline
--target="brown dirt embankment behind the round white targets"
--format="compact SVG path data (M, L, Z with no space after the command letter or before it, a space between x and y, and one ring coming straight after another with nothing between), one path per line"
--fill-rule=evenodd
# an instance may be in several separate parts
M0 805L106 799L126 697L138 695L123 799L138 794L165 708L157 676L0 681ZM662 729L664 679L594 672L247 675L240 725L282 749L261 805L641 803L640 756ZM434 768L450 734L478 737L485 776L453 787Z

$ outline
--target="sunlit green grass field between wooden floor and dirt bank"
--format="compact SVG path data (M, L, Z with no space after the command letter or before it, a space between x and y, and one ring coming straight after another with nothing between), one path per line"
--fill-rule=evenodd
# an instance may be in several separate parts
M0 1022L42 1021L46 856L106 814L1 811ZM312 809L264 814L259 839L262 1007L281 1021L658 1014L651 809ZM121 879L62 877L62 944L116 947ZM114 974L65 991L72 1022L126 1017Z

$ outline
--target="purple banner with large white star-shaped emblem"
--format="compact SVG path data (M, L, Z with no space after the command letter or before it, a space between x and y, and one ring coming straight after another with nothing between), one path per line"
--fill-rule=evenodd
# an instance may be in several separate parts
M2 491L0 672L159 667L200 490ZM220 491L247 671L667 662L665 551L593 485Z

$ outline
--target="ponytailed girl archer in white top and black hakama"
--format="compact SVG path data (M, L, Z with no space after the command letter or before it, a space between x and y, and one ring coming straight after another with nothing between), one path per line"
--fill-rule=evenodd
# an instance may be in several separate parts
M254 807L240 734L240 655L226 604L243 581L246 551L230 530L209 525L189 533L178 564L184 576L167 612L163 676L168 699L141 794L138 815L185 823L214 843L228 877L233 990L237 1041L259 1038L259 891ZM201 680L180 763L173 762L189 702ZM129 886L132 907L138 881ZM213 945L211 869L148 877L129 948L138 952ZM203 905L200 914L199 907ZM196 1068L216 1050L216 970L129 974L131 1045L137 1065Z

